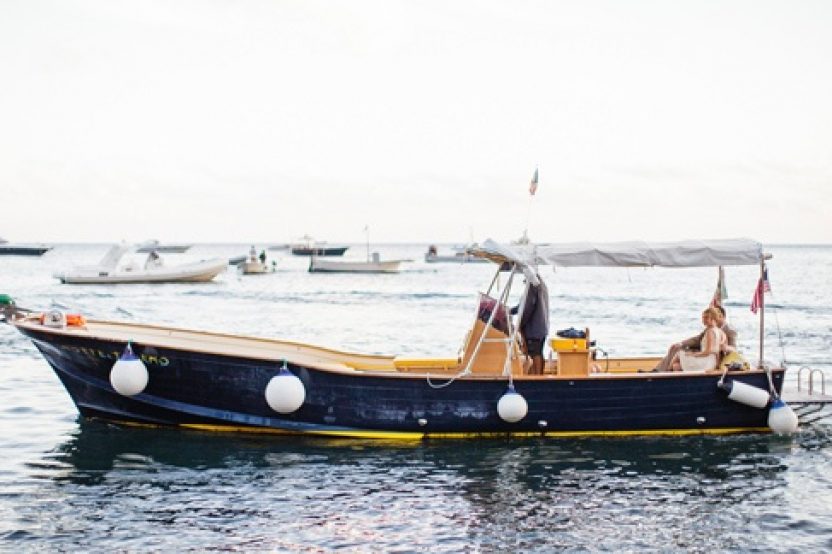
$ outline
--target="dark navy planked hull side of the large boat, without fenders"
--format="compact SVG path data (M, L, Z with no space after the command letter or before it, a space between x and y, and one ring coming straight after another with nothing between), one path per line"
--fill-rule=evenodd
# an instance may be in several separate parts
M528 403L528 414L508 423L497 413L506 392L504 378L466 377L447 384L447 377L289 363L306 397L297 411L281 415L264 394L279 361L135 342L133 350L150 378L142 393L126 397L109 382L126 337L104 340L39 325L18 328L55 370L82 415L126 423L377 438L767 430L768 409L729 400L718 389L716 374L518 377L514 385ZM783 374L773 372L778 392ZM761 371L730 378L768 388Z

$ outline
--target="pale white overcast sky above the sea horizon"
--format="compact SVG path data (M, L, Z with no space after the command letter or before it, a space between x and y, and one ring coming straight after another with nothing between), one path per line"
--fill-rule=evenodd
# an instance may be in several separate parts
M831 30L829 1L2 0L0 236L832 243Z

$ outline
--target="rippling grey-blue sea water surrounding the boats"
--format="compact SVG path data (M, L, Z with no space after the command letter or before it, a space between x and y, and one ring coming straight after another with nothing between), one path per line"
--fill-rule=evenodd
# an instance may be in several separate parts
M0 293L89 317L454 356L489 264L396 275L229 269L206 284L62 285L106 245L0 258ZM766 248L764 359L832 375L832 248ZM197 245L168 264L245 253ZM365 258L354 246L348 258ZM610 356L658 355L699 330L715 269L542 267L552 330L589 328ZM727 268L726 308L756 361L759 268ZM506 276L498 284L505 284ZM513 297L516 300L516 297ZM818 386L816 384L816 386ZM832 387L832 383L830 383ZM832 389L831 389L832 390ZM7 551L819 551L832 548L832 427L793 437L383 442L128 429L78 417L35 348L0 325L0 549Z

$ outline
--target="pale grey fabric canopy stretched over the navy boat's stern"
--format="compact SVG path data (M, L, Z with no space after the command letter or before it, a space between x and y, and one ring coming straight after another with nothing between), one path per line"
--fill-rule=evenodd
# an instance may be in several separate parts
M499 244L491 239L472 254L497 263L516 263L526 273L536 264L555 267L715 267L757 265L763 247L750 239L681 242L574 242Z

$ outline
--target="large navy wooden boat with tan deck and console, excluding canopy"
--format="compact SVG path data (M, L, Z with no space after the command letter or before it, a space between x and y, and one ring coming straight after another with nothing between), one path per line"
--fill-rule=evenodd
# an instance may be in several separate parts
M82 415L116 422L394 439L769 430L770 404L732 400L721 385L743 383L776 399L784 369L649 373L642 371L656 358L599 365L587 352L586 366L552 359L543 375L525 374L505 299L513 275L529 269L527 258L484 248L481 255L513 271L497 298L480 303L459 358L363 355L77 318L67 325L61 314L13 305L6 319L33 341ZM127 364L144 371L133 390L117 375ZM524 408L506 411L506 398L521 398Z

